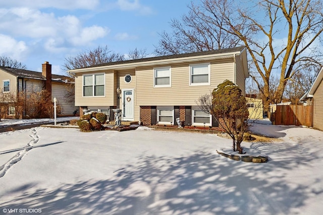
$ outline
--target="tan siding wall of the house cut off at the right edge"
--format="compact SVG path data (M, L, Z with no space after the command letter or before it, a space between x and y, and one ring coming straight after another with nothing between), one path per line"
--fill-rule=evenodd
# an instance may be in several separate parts
M323 130L323 81L313 95L313 127Z

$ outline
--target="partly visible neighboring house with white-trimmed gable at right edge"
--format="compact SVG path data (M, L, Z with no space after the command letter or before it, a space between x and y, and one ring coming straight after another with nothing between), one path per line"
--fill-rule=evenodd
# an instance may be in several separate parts
M309 91L300 100L313 105L313 127L323 130L323 67Z

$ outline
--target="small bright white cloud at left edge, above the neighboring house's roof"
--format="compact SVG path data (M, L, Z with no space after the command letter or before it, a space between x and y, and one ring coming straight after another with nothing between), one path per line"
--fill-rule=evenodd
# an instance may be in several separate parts
M0 34L0 55L12 57L18 61L24 58L27 52L27 46L23 41L17 41L14 38Z

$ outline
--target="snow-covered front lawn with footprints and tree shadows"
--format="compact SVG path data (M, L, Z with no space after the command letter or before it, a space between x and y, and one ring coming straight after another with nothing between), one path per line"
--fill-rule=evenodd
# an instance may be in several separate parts
M38 209L37 214L39 209L41 214L323 211L322 131L254 124L253 131L280 138L243 142L270 157L256 164L217 154L232 141L215 134L143 128L84 133L36 127L0 133L0 166L5 165L0 213L17 208ZM27 144L33 148L22 150ZM15 155L21 158L17 163Z

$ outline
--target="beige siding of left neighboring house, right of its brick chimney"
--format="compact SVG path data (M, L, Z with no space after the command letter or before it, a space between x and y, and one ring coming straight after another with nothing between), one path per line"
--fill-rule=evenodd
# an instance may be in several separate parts
M51 99L56 97L58 104L61 106L61 114L73 114L79 108L74 106L74 101L68 102L66 99L67 91L65 84L51 83Z

